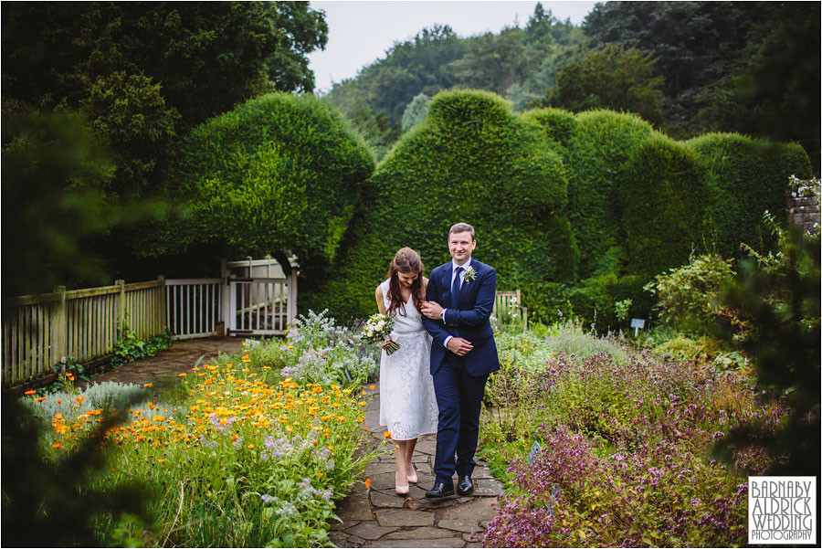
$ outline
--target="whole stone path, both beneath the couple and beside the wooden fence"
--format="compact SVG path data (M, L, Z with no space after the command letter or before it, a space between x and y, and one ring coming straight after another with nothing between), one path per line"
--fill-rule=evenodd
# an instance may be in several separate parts
M179 380L177 374L190 370L199 357L237 353L241 343L240 339L219 337L174 343L171 349L96 375L91 381L171 386ZM374 399L366 408L363 423L371 448L380 446L385 438L385 427L380 425L379 382L374 387ZM412 460L419 483L411 485L406 497L394 491L394 452L386 446L386 453L366 466L364 478L357 480L352 492L337 502L342 523L332 523L332 543L340 547L479 547L482 531L496 514L502 483L478 459L472 496L426 500L426 491L434 485L435 444L434 435L417 442ZM366 479L371 480L367 490Z

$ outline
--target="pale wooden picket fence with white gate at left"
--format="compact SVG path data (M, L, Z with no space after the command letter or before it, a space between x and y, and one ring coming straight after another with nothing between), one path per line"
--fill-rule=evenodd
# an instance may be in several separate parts
M273 259L251 261L249 265ZM54 375L60 364L111 359L123 322L142 340L168 329L174 339L285 333L297 314L296 270L284 278L174 279L13 298L3 319L3 386ZM253 274L253 273L252 273Z

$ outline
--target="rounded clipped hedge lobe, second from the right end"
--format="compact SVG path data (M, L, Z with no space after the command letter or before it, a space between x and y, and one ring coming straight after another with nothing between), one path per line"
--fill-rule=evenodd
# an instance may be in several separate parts
M709 195L696 154L650 137L638 143L620 175L628 272L650 277L687 261L706 238Z

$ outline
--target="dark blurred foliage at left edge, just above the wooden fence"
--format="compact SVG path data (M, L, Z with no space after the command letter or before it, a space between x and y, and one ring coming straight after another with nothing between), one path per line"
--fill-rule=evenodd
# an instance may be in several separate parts
M3 117L4 297L103 282L90 239L121 220L103 189L113 165L79 114Z

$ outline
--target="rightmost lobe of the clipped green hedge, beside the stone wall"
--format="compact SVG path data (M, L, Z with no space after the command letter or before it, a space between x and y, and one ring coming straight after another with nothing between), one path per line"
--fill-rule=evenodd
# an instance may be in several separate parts
M765 211L785 216L785 181L808 177L807 155L796 144L769 143L742 135L709 133L687 142L706 168L711 202L706 211L712 249L739 258L739 245L774 244L762 224Z

